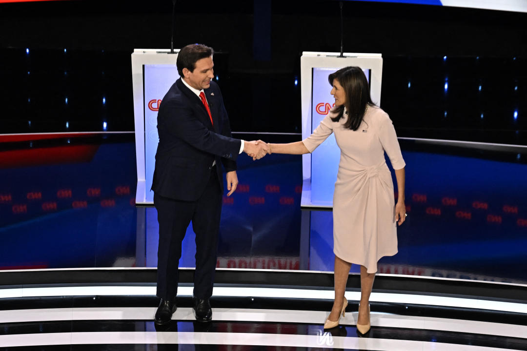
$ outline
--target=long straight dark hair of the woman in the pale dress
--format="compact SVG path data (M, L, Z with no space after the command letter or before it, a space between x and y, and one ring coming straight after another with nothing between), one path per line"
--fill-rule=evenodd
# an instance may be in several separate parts
M338 122L344 115L344 107L348 114L348 119L344 123L345 128L356 131L364 119L368 105L375 106L372 97L369 95L369 84L364 71L360 67L349 66L340 68L337 72L329 75L329 84L333 86L333 81L337 79L343 87L346 95L344 105L335 106L331 112L337 113L331 121Z

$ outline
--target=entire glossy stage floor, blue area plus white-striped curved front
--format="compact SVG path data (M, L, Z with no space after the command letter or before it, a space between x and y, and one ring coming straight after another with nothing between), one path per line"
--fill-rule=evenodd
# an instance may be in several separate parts
M223 200L217 264L220 277L224 268L291 275L251 284L250 277L221 278L214 320L201 325L192 322L189 273L173 323L157 330L157 220L153 207L134 204L133 134L0 140L0 350L527 349L525 148L400 141L408 218L398 229L399 253L379 262L372 332L359 338L358 267L335 330L322 329L330 274L320 284L300 274L331 272L334 256L331 212L300 209L299 156L252 162L240 155L240 185ZM194 245L189 227L180 261L189 272ZM69 268L88 270L44 273ZM96 278L79 278L90 268L99 269ZM7 275L13 271L33 275ZM104 278L112 272L124 273ZM392 286L392 275L407 280ZM423 289L418 277L434 280L424 278ZM471 293L469 283L495 292L477 286Z

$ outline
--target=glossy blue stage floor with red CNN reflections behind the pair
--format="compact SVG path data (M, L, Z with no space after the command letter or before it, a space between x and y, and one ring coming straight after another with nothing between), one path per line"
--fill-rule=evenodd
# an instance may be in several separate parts
M527 282L525 148L401 145L408 219L379 273ZM0 160L1 269L155 267L155 209L134 205L133 135L10 141ZM300 156L238 164L218 267L332 270L331 212L300 209ZM181 267L194 266L190 228Z

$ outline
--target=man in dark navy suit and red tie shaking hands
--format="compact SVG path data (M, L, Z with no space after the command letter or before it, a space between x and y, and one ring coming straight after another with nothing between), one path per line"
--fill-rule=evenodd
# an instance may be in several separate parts
M158 211L159 249L157 295L161 302L156 324L169 323L177 308L178 264L181 242L192 220L196 233L194 314L212 318L209 297L216 270L222 205L221 165L227 172L230 196L238 185L236 158L246 152L261 158L264 143L231 137L229 118L214 77L212 48L191 44L178 54L181 76L163 97L158 112L159 145L152 183Z

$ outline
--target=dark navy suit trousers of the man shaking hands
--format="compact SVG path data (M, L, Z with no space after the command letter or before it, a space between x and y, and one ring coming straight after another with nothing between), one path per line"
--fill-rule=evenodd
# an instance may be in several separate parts
M207 187L196 201L175 200L154 193L159 222L157 296L173 299L178 293L181 243L191 220L196 233L193 294L197 298L212 295L222 200L216 166L212 167Z

